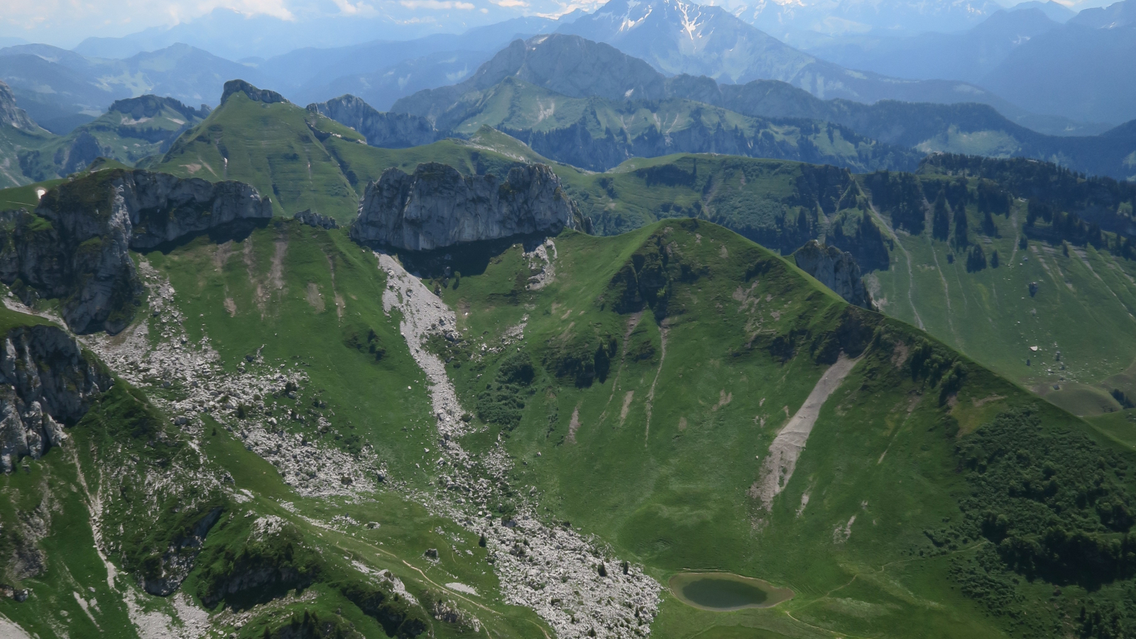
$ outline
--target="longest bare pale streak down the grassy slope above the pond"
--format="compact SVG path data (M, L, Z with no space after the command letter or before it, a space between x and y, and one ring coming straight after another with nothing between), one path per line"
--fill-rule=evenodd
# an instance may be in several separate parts
M796 460L801 457L809 433L812 432L812 426L820 415L820 408L828 400L828 396L833 395L844 377L852 372L857 362L859 360L851 359L842 352L836 364L825 371L801 408L769 445L769 455L761 463L758 481L750 487L750 497L760 499L766 511L772 506L774 497L788 486Z

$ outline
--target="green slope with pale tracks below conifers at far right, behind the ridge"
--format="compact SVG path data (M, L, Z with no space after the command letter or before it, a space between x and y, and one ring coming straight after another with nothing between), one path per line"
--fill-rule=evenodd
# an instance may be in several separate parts
M861 181L870 190L880 183L878 177ZM987 190L1006 202L1002 213L988 215L982 210L979 188L991 183L959 180L922 173L911 183L917 185L914 208L901 207L902 198L891 201L874 194L877 221L894 242L891 269L868 279L882 309L1074 413L1121 408L1113 391L1136 391L1130 377L1136 362L1136 263L1122 257L1125 241L1091 225L1061 230L1056 222L1031 219L1031 206L1035 213L1079 208L1072 201L1050 205L1053 200L1044 197L1034 204L1012 198L1014 185L1009 182L1005 190ZM952 188L954 201L945 208L949 233L936 236L936 207L928 200ZM1126 204L1105 216L1094 214L1099 205L1080 208L1086 216L1103 221L1114 215L1122 223ZM968 227L964 244L958 234L960 210ZM971 262L979 248L983 259Z

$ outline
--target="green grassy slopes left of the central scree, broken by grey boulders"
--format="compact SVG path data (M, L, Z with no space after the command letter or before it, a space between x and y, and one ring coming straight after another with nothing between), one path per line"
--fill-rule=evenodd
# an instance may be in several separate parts
M402 490L364 498L304 497L235 437L233 425L239 428L240 421L206 416L200 432L181 431L170 425L170 414L159 415L153 406L140 408L145 396L162 401L177 398L177 388L152 379L132 390L119 381L69 430L72 439L64 448L51 449L40 460L25 459L27 472L0 478L5 531L26 521L41 504L52 509L47 534L35 541L48 558L47 570L14 581L17 588L30 588L32 597L24 603L0 598L0 614L41 638L135 637L132 622L139 621L139 611L176 615L170 598L141 592L134 580L147 570L145 553L165 548L162 536L185 525L177 513L192 513L185 501L162 504L165 492L153 501L149 490L168 490L165 487L173 480L174 486L199 481L225 486L207 501L222 507L223 515L182 586L198 605L206 604L214 615L209 623L225 636L260 639L267 630L273 637L289 637L295 632L289 630L291 620L300 626L308 615L342 625L345 637L359 636L349 628L365 637L394 636L398 624L384 625L382 612L359 598L376 583L368 574L381 570L401 579L424 605L444 600L460 612L465 621L440 621L420 608L417 613L408 608L432 636L466 636L473 617L482 631L495 637L531 637L546 628L531 609L502 603L476 536L406 499L403 490L432 481L417 463L421 447L433 446L436 435L429 434L433 418L420 380L414 390L407 388L420 371L398 333L396 317L382 312L384 282L369 251L350 243L341 231L279 222L239 242L218 247L199 238L169 254L156 251L140 259L170 279L176 304L186 315L202 317L186 326L189 337L200 339L204 329L224 368L243 368L245 355L259 352L267 367L286 365L307 374L301 397L291 399L283 392L265 397L281 416L282 428L352 454L374 447ZM381 357L366 350L368 334L379 345ZM364 348L358 347L360 335ZM312 397L319 400L318 410ZM308 418L289 421L290 412ZM332 418L335 428L318 426L314 412ZM228 479L218 484L216 478ZM124 486L127 489L119 493ZM109 569L91 537L89 505L98 512L100 492L108 513L103 542L114 550L108 554L117 579L108 578ZM141 514L154 512L164 513L158 521ZM130 524L143 516L148 526ZM250 541L257 534L254 522L264 517L278 517L281 541ZM365 525L368 522L376 525ZM424 557L427 548L442 549L440 558ZM7 553L9 547L0 550ZM295 566L314 579L269 586L261 589L264 596L234 595L224 605L203 600L224 583L228 571L236 570L234 565L257 553L270 557L268 565ZM285 553L292 557L287 564L282 563ZM445 586L452 582L475 589L476 595ZM135 614L127 619L132 606ZM245 612L245 619L233 617L226 606Z

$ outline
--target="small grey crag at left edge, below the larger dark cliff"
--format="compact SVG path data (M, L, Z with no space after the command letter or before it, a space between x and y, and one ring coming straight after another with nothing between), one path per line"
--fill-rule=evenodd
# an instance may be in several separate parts
M24 456L37 459L66 438L102 391L110 374L56 326L8 331L0 351L0 471Z

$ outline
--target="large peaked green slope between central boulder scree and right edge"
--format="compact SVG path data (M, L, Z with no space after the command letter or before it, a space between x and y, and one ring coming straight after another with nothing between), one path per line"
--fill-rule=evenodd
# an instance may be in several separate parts
M487 334L490 346L525 323L517 350L479 358L478 339L449 351L462 400L490 422L469 447L488 449L500 433L524 462L515 479L537 487L548 516L600 536L662 582L682 571L728 571L796 592L777 608L734 613L668 596L658 636L1049 636L1079 623L1097 586L1029 583L1008 569L983 513L1001 508L1024 526L1013 534L1029 534L1022 513L1033 501L1003 495L1005 486L984 492L966 455L1036 429L1036 448L1018 442L1025 457L985 463L1025 472L1044 458L1066 482L1080 471L1062 450L1100 454L1117 467L1130 453L912 327L849 310L718 226L666 221L556 243L554 281L538 291L520 285L529 269L519 247L483 273L467 265L458 285L443 289L459 327ZM642 315L619 301L628 299L628 267L646 283ZM765 512L749 491L770 441L841 347L862 349L860 360ZM502 372L516 370L517 351L533 366L532 382ZM582 372L593 356L592 372ZM1043 449L1063 440L1076 446ZM1116 496L1131 493L1127 475L1109 476ZM1093 525L1093 534L1110 530ZM1127 579L1094 590L1099 605L1122 606ZM1050 599L1054 581L1062 594Z

